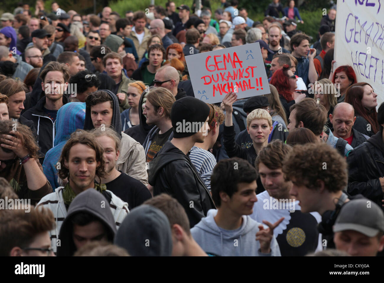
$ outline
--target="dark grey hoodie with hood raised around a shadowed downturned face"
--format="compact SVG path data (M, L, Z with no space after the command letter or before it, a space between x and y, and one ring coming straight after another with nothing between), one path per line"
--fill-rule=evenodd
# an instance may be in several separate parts
M100 205L104 203L105 205ZM57 256L73 256L77 250L73 242L73 225L72 217L77 213L88 213L98 218L103 223L108 242L113 243L113 238L116 234L116 225L111 213L109 202L95 189L87 189L79 193L71 202L67 217L61 224L59 239L61 245L57 247Z

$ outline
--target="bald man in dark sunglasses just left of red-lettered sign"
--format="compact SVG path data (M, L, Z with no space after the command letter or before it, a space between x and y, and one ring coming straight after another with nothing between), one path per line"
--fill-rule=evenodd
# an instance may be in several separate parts
M153 84L155 87L165 87L174 95L175 99L186 97L184 89L178 88L180 76L177 70L172 66L163 66L157 70Z

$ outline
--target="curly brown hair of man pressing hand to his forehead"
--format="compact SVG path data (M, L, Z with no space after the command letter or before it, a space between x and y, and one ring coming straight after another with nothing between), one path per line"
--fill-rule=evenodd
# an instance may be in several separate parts
M16 131L19 133L19 137L22 140L25 149L28 151L31 158L38 159L39 147L35 141L35 137L32 134L30 127L22 125L18 122L13 121L0 121L0 134L12 135L13 126L16 126ZM5 152L11 152L10 149L2 147Z

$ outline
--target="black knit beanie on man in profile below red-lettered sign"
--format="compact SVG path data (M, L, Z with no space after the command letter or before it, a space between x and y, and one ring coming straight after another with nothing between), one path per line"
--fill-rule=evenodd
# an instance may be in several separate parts
M197 133L207 121L209 106L201 100L187 96L176 100L170 111L173 126L173 137L190 137ZM196 123L198 122L198 129Z

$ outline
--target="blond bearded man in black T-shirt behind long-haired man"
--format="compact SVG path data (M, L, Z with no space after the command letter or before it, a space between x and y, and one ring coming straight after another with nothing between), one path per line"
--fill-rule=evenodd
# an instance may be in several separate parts
M103 148L105 175L101 178L101 184L105 184L107 190L128 203L129 210L152 198L144 184L116 169L121 146L121 140L116 131L106 127L105 129L93 129L92 132Z

